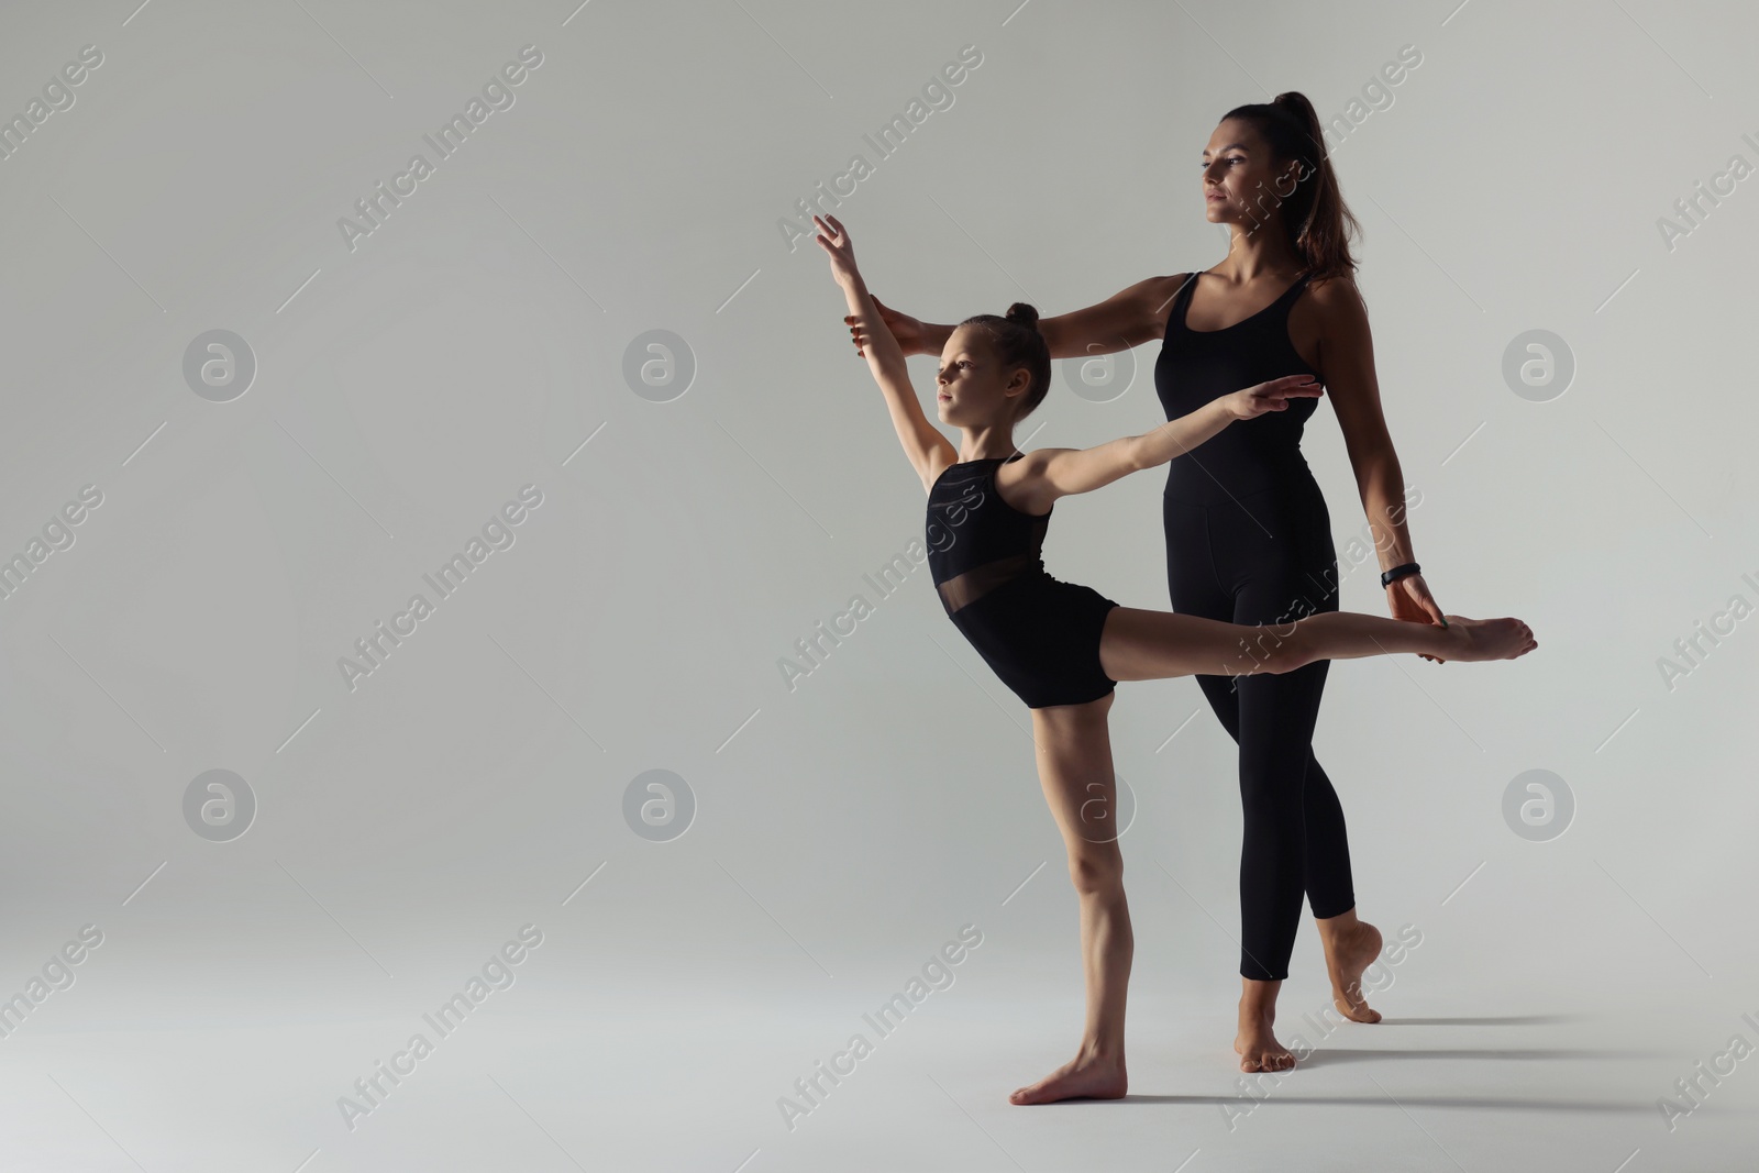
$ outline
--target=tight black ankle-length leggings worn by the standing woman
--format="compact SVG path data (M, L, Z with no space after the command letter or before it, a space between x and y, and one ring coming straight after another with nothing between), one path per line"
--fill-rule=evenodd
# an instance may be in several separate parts
M1317 485L1224 503L1168 496L1163 515L1173 610L1247 624L1286 624L1337 610L1332 519ZM1270 640L1266 633L1263 644ZM1344 809L1312 753L1330 667L1321 659L1282 674L1196 677L1240 746L1244 978L1289 976L1302 892L1319 918L1356 906Z

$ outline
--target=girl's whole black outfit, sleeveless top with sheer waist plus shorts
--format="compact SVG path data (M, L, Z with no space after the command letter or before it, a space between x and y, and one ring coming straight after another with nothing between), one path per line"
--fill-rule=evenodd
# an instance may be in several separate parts
M1011 457L946 466L929 489L929 573L946 614L1029 709L1099 700L1099 633L1117 603L1045 573L1050 514L1022 514L996 491Z

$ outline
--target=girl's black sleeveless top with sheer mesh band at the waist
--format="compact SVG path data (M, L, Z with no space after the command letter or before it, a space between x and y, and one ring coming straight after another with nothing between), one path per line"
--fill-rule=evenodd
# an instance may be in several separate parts
M1022 514L996 492L996 470L1018 459L959 461L929 489L929 573L948 616L1004 582L1045 573L1050 514Z

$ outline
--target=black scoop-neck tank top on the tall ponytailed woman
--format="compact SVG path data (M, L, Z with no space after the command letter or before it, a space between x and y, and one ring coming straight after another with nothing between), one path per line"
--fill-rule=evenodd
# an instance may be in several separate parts
M1154 390L1166 419L1196 412L1205 403L1284 375L1312 375L1289 341L1289 306L1307 288L1302 274L1274 302L1221 331L1193 331L1186 310L1198 287L1193 273L1173 297L1166 338L1154 362ZM1302 455L1302 427L1317 399L1289 399L1282 412L1235 420L1219 434L1173 457L1166 470L1166 496L1198 505L1237 501L1266 489L1317 491Z

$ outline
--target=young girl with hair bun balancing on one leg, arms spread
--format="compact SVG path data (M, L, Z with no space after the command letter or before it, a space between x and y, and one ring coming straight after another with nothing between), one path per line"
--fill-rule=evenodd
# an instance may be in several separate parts
M1087 976L1080 1048L1043 1080L1017 1089L1010 1101L1117 1099L1128 1087L1124 992L1135 941L1117 839L1094 834L1092 825L1115 809L1106 712L1117 681L1284 674L1319 659L1390 652L1513 659L1537 644L1520 619L1448 616L1448 626L1439 628L1326 612L1281 626L1247 626L1119 607L1091 587L1052 579L1040 549L1057 498L1166 464L1235 420L1284 412L1291 399L1317 396L1317 383L1310 375L1275 378L1221 396L1143 436L1022 454L1013 447L1013 426L1045 399L1050 352L1036 331L1038 311L1015 304L1006 318L966 318L941 352L936 403L939 419L960 431L953 450L916 403L904 352L874 308L848 232L836 216L813 222L865 338L867 366L904 455L929 492L929 570L941 603L1033 714L1040 783L1080 897Z

